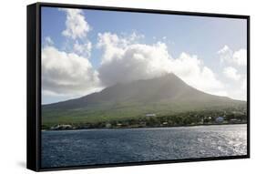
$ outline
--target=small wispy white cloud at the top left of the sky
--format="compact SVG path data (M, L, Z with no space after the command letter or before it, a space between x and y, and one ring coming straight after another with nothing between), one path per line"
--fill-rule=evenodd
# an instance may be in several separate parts
M71 8L61 8L60 10L67 14L66 29L62 35L72 39L85 38L91 27L88 25L83 11Z

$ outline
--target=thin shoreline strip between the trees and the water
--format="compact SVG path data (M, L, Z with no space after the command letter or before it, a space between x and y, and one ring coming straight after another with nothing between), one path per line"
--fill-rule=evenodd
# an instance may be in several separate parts
M63 130L111 130L111 129L138 129L138 128L188 128L188 127L200 127L200 126L221 126L221 125L247 125L247 122L243 123L212 123L212 124L195 124L195 125L184 125L184 126L169 126L169 127L134 127L134 128L67 128L67 129L41 129L41 131L63 131Z

